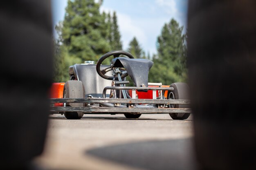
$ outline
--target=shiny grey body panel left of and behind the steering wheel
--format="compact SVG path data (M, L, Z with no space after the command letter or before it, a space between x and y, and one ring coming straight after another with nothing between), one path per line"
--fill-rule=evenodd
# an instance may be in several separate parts
M109 67L102 65L101 69ZM73 72L72 72L73 71ZM70 75L75 75L76 79L83 83L85 88L85 97L92 95L93 97L102 97L103 89L106 86L111 86L112 81L104 79L96 71L95 64L75 64L70 66ZM113 71L109 71L106 75L112 76ZM110 91L107 91L106 97L109 97Z

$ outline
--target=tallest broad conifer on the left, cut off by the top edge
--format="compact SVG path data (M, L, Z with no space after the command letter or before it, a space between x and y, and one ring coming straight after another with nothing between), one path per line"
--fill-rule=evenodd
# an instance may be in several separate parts
M69 0L63 21L63 44L71 57L94 60L110 51L107 42L106 16L94 0Z

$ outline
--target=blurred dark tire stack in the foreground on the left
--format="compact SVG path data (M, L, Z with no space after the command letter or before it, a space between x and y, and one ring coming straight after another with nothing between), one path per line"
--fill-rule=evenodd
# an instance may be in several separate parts
M49 0L0 5L0 167L22 169L43 150L52 81Z

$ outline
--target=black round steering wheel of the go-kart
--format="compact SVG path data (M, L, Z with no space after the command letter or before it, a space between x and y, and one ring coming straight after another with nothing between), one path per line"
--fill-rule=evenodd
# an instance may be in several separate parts
M108 58L108 57L110 57L110 56L112 56L112 55L114 56L114 58L119 57L119 55L126 55L126 56L129 57L129 58L134 58L134 57L132 56L132 54L130 54L130 53L126 52L126 51L122 51L122 50L110 51L110 52L108 52L108 53L102 55L102 56L99 58L99 60L98 60L98 62L97 62L97 64L96 64L96 71L97 71L97 73L98 73L101 77L103 77L104 79L109 79L109 80L112 80L112 79L114 79L114 78L117 79L117 77L106 75L106 73L108 73L109 71L112 70L112 67L111 67L111 66L108 67L108 68L105 68L105 69L102 69L102 70L101 70L101 63L102 63L106 58ZM122 74L122 75L121 75L121 78L124 78L124 77L126 77L126 76L128 76L128 73Z

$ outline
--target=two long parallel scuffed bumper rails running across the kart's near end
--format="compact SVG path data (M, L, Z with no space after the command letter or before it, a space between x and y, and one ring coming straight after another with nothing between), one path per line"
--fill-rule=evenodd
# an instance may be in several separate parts
M86 103L89 107L51 107L53 112L86 112L86 113L191 113L190 108L166 108L169 104L185 104L189 105L189 100L172 100L172 99L108 99L108 98L61 98L50 99L51 103ZM93 104L116 103L127 104L128 107L99 107ZM155 104L153 106L143 106L140 104ZM162 106L162 107L161 107Z

